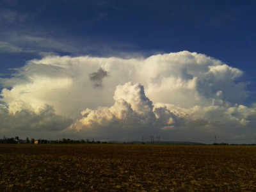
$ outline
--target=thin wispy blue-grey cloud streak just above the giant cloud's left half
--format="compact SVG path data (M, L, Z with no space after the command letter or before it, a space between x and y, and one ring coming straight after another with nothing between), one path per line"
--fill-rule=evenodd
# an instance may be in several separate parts
M19 31L19 29L17 29L17 31ZM81 55L84 53L102 56L109 56L113 54L116 56L140 55L140 53L134 53L134 51L122 51L123 49L132 50L135 48L134 45L128 43L114 41L109 45L108 42L102 43L97 40L90 40L90 38L77 38L76 40L73 38L72 40L69 40L68 36L63 36L62 38L54 36L46 37L42 31L35 31L36 35L29 35L33 32L33 30L30 31L30 29L29 31L17 31L11 31L10 33L4 31L4 33L2 33L4 41L0 42L0 52L23 52L31 54L31 58L35 56L54 54Z

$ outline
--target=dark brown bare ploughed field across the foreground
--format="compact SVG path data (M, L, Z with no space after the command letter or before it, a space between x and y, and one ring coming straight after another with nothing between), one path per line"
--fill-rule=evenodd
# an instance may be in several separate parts
M256 146L0 145L0 191L256 191Z

